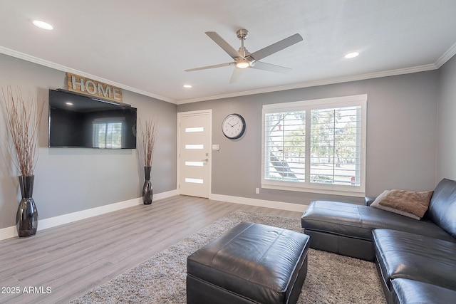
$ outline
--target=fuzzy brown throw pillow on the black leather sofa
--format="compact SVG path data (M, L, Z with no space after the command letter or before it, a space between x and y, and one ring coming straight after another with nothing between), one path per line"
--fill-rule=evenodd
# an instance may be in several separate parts
M422 218L429 207L432 191L413 192L405 190L391 190L378 203L382 206L415 214Z

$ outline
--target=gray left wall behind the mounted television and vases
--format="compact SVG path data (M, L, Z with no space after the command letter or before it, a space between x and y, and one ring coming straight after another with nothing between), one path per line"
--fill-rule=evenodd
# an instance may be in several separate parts
M66 88L65 73L0 54L0 86L19 86L24 96L45 99L33 199L40 219L136 199L144 173L137 150L48 148L48 89ZM3 96L0 93L0 100ZM123 101L138 108L143 122L155 115L159 131L152 163L154 193L176 189L176 105L123 90ZM3 107L0 107L3 109ZM0 136L6 135L0 112ZM19 175L0 144L0 229L16 225Z

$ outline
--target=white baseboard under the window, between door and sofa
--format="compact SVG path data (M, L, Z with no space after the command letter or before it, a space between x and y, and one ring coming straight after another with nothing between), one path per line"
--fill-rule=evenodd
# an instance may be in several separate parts
M283 201L266 201L264 199L250 199L248 197L229 196L222 194L209 194L209 199L214 201L227 201L228 203L260 206L273 209L304 212L307 205L286 203Z

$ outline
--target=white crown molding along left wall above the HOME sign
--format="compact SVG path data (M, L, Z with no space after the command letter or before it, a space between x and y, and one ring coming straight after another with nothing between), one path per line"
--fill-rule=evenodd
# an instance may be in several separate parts
M18 51L11 50L9 48L4 48L3 46L0 46L0 53L3 53L5 55L11 56L11 57L19 58L19 59L22 59L24 61L29 61L31 63L36 63L36 64L39 64L39 65L43 65L43 66L46 66L48 68L53 68L55 70L61 70L63 72L70 72L70 73L78 74L78 75L81 75L81 76L86 77L86 78L90 78L90 79L93 79L93 80L100 81L102 83L107 83L108 85L114 85L114 86L116 86L118 88L122 88L124 90L129 90L130 92L133 92L133 93L138 93L140 95L145 95L145 96L148 96L148 97L151 97L151 98L155 98L155 99L158 99L158 100L163 100L163 101L166 101L167 103L176 104L176 100L173 100L171 98L166 98L166 97L163 97L163 96L160 96L160 95L152 94L152 93L147 92L145 90L140 90L138 88L133 88L133 87L130 87L129 85L124 85L122 83L116 83L115 81L111 81L111 80L108 80L108 79L105 79L105 78L100 78L100 77L98 77L96 75L91 75L91 74L85 73L85 72L83 72L81 70L75 70L74 68L68 68L68 66L60 65L58 63L53 63L51 61L46 61L44 59L41 59L41 58L38 58L38 57L35 57L35 56L30 56L30 55L28 55L26 53L21 53L21 52L18 52Z

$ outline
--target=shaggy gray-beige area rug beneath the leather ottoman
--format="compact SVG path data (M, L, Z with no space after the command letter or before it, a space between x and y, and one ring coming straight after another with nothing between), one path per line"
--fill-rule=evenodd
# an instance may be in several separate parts
M187 256L241 221L301 231L301 222L236 211L71 303L186 303ZM309 249L298 303L386 303L375 264Z

